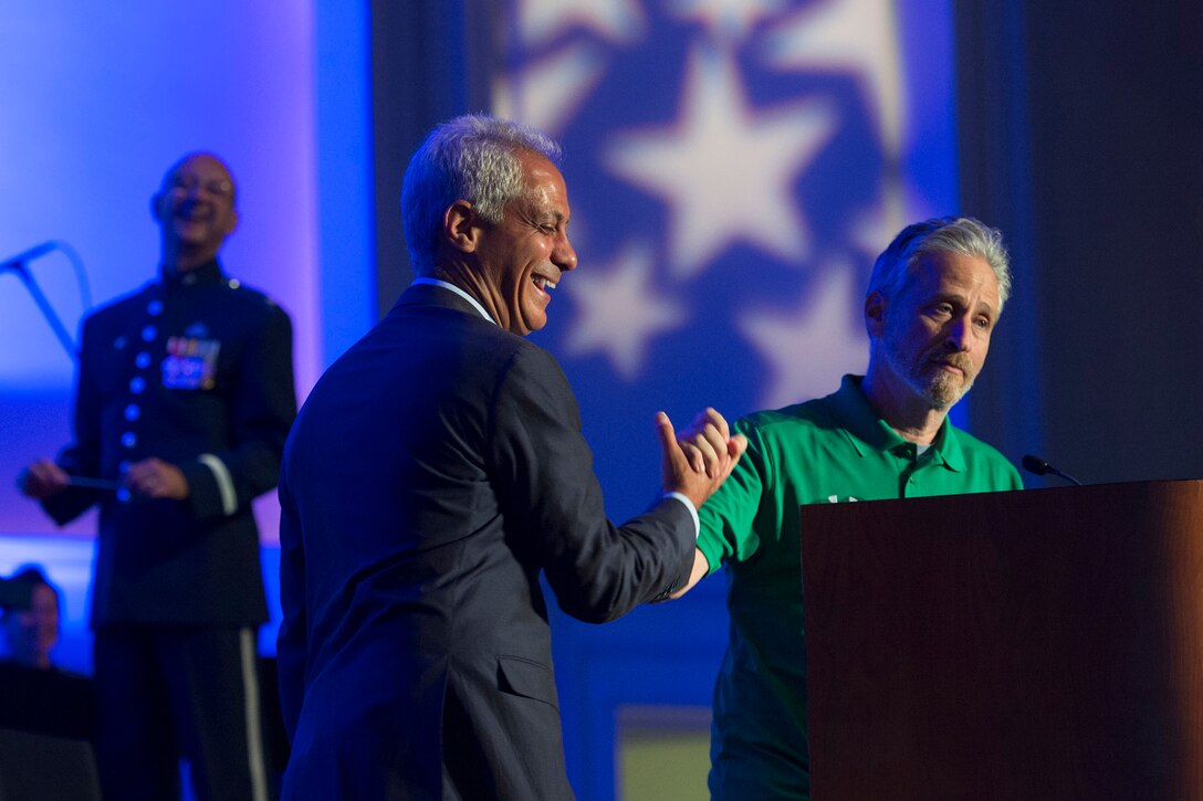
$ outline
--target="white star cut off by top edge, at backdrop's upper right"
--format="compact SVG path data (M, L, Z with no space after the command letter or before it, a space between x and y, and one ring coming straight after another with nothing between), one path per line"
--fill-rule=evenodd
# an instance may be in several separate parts
M764 35L776 69L858 73L885 155L902 152L906 96L894 0L826 0L806 6Z

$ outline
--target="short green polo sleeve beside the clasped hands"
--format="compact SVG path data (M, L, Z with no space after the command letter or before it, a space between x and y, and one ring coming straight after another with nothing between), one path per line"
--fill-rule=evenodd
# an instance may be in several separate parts
M698 510L701 518L698 550L710 563L710 572L724 562L742 562L755 553L760 540L753 526L774 475L769 449L759 431L745 417L736 421L735 433L748 438L748 449L730 477Z

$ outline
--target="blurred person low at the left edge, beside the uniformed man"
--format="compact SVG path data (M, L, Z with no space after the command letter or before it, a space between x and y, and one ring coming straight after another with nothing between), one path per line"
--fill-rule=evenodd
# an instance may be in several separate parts
M91 678L57 668L51 658L59 641L59 589L37 565L18 568L8 581L28 583L30 593L28 607L0 610L0 728L91 740Z

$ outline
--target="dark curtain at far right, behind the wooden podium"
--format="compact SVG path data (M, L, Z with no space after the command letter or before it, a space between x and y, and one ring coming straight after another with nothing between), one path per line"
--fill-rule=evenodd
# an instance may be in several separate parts
M1203 6L956 14L962 207L1017 279L973 431L1088 483L1203 477Z

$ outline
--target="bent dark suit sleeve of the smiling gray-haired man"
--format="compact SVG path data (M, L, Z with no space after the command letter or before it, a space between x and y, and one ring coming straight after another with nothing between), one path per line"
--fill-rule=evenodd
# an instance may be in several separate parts
M506 526L540 564L561 607L588 622L664 598L689 575L694 524L685 504L662 500L624 526L605 516L576 398L541 349L520 349L498 386L491 473Z

